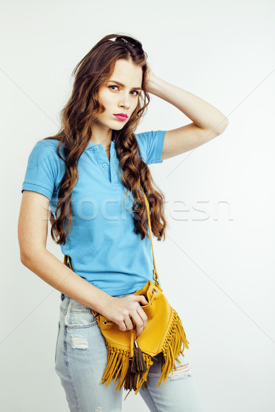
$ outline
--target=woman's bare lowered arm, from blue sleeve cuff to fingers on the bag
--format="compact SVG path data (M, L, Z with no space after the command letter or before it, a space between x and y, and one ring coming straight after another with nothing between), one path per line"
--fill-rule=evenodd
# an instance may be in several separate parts
M120 330L131 330L132 319L139 336L146 326L146 314L139 304L148 303L145 297L112 297L77 275L47 251L49 204L50 200L43 194L23 191L18 222L20 258L23 265L61 293L115 322Z

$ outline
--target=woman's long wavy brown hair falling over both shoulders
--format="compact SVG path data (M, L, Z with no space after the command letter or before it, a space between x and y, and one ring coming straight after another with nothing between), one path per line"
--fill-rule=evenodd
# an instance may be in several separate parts
M112 41L112 39L115 40ZM65 156L63 159L65 174L59 185L58 205L55 211L57 217L55 218L50 211L51 236L57 244L65 244L72 225L71 198L72 190L78 179L78 159L91 139L91 126L98 115L104 112L104 106L98 99L98 91L113 72L115 61L122 58L132 60L142 68L142 92L144 93L144 95L140 93L137 107L125 126L121 130L112 130L122 184L127 189L126 195L129 190L133 193L132 211L134 212L135 233L140 234L142 239L150 236L146 231L148 217L144 196L140 190L142 186L151 209L152 233L157 236L157 240L165 239L167 222L164 215L164 194L153 181L148 165L139 156L137 139L133 133L150 102L145 81L148 70L147 57L140 41L131 36L109 34L104 36L78 62L72 73L72 76L75 75L74 87L69 101L61 111L61 129L56 135L43 139L58 139L56 149L58 157L63 159L60 154L61 145ZM65 233L66 218L68 218L68 225Z

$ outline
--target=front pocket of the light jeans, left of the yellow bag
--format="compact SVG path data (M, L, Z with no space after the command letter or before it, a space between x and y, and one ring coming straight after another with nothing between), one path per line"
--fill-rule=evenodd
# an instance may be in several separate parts
M67 329L91 328L97 324L91 308L71 299L64 313L64 324Z

